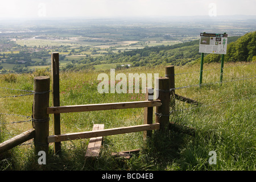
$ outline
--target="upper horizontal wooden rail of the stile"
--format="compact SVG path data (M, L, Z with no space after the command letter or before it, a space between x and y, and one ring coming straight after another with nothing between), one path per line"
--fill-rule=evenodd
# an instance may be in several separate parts
M47 114L161 106L160 100L48 107Z

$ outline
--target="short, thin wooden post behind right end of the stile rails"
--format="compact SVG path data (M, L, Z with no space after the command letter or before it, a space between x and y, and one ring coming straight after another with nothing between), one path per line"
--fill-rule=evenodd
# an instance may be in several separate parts
M152 88L146 88L145 100L152 101L154 100L154 90ZM153 107L145 107L144 109L144 124L152 124L153 123ZM151 137L152 131L144 131L143 138Z

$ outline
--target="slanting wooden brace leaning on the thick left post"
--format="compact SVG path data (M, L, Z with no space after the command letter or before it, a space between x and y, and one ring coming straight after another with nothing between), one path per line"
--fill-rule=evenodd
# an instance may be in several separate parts
M23 142L26 142L27 140L30 140L32 138L35 138L35 130L31 129L25 131L22 134L19 134L9 140L6 140L5 142L0 143L0 153L16 147L19 144L22 144Z

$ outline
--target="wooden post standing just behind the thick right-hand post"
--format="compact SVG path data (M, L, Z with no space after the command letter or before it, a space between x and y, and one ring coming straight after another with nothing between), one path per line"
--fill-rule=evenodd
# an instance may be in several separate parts
M175 88L175 74L174 74L174 66L166 67L166 77L169 78L169 89ZM175 90L171 90L170 92L170 106L172 109L175 107Z

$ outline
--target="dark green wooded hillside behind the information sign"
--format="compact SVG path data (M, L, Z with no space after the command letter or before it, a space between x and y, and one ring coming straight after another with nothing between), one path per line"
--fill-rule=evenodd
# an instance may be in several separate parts
M224 61L252 61L256 59L256 32L249 32L243 36L228 38L227 54ZM199 40L179 43L172 46L146 46L143 49L113 53L100 57L85 57L74 61L72 70L77 64L96 65L101 63L132 63L132 67L155 66L159 64L185 65L200 63ZM204 62L219 62L221 55L205 54ZM88 66L86 68L88 68ZM71 65L68 65L71 68ZM80 66L81 68L81 66ZM92 68L92 67L90 67ZM68 70L65 69L65 70Z

